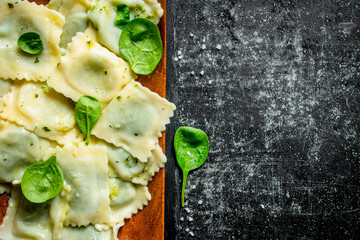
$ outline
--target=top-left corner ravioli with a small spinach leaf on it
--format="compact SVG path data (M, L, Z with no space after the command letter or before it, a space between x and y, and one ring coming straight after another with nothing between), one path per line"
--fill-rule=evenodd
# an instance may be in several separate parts
M60 35L64 17L26 1L0 1L0 77L44 82L60 60ZM40 35L43 51L32 55L18 46L27 32Z

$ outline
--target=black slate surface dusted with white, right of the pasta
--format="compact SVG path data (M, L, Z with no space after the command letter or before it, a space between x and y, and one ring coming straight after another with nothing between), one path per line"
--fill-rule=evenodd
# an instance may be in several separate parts
M168 0L166 239L359 239L360 1ZM207 132L180 206L173 136Z

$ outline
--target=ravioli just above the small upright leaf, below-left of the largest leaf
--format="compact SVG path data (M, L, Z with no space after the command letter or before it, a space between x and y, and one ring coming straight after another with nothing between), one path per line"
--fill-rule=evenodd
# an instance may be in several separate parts
M78 33L49 86L74 101L83 95L95 97L102 103L110 102L136 75L123 59L118 58L91 36L91 31Z

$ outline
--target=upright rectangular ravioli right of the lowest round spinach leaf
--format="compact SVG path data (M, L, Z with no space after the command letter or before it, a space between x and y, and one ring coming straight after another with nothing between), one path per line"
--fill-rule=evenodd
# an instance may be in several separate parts
M53 154L56 154L65 182L71 188L63 197L67 209L54 206L63 214L66 212L64 225L108 224L110 200L106 150L101 147L77 148L65 145L63 148L49 149L47 156Z

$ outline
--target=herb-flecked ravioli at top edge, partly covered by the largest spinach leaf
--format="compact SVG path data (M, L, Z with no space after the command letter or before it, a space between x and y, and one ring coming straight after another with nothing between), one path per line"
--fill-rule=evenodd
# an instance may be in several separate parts
M88 17L97 29L97 37L101 44L112 52L120 54L119 39L121 29L115 25L117 5L126 4L130 9L130 20L148 18L158 24L163 10L156 0L93 0Z

